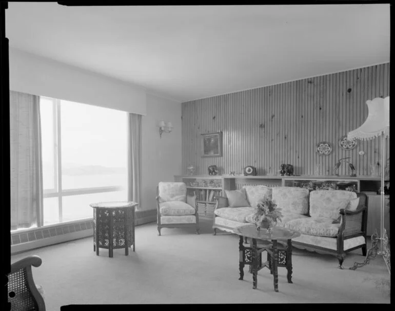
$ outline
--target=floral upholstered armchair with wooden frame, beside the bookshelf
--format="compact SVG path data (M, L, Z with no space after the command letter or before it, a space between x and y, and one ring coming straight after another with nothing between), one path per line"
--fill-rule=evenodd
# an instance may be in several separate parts
M180 182L160 182L156 190L157 231L162 228L195 227L199 234L198 206L187 204L187 186Z

